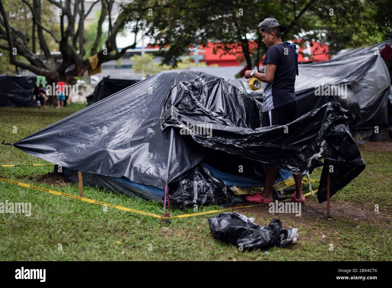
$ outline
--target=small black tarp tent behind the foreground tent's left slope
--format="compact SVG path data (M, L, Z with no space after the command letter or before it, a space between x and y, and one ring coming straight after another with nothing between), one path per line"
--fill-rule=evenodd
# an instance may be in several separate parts
M117 93L118 91L121 91L139 81L140 80L111 79L107 76L96 85L94 92L87 96L87 106Z

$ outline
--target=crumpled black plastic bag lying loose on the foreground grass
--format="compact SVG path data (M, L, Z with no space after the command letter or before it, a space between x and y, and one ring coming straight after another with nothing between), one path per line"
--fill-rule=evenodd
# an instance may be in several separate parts
M243 249L263 248L266 246L285 247L295 243L298 229L282 229L279 219L272 219L268 227L253 223L251 218L234 212L225 212L208 219L210 230L215 239L243 245Z

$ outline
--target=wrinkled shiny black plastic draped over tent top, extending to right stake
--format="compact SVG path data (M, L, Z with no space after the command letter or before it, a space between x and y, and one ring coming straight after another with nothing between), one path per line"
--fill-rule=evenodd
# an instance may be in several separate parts
M261 106L207 74L172 88L163 107L162 126L188 129L194 141L204 147L296 174L311 174L314 168L324 166L317 193L322 203L327 200L326 167L334 167L330 196L365 169L365 161L343 125L347 112L338 102L329 102L287 125L260 127ZM188 128L207 124L210 135Z

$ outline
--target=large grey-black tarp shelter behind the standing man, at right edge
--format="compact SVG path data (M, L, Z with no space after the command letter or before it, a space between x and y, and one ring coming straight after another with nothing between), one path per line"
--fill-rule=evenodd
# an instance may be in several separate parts
M345 124L352 135L358 132L359 142L385 139L382 130L388 128L388 97L391 105L392 87L387 65L380 53L390 42L386 40L372 47L342 51L332 60L298 65L295 93L299 115L336 101L349 110ZM245 79L230 83L262 101L264 83L257 91L250 90ZM336 89L345 88L337 85L347 85L347 95L341 96L336 90L326 91L329 85L336 85ZM323 91L319 96L315 94L317 89ZM375 126L379 127L379 133L374 133Z

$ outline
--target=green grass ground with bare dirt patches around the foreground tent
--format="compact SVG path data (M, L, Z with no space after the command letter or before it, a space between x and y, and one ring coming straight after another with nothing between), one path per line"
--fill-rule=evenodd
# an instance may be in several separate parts
M15 142L58 121L85 105L62 110L0 108L0 140ZM31 202L32 215L0 214L0 261L4 260L372 260L391 261L392 144L367 143L359 147L367 167L358 178L331 199L332 220L325 204L309 196L303 214L271 215L267 206L237 210L268 225L278 217L283 226L296 227L298 242L287 248L239 251L214 240L208 216L156 219L85 203L0 181L0 202ZM11 146L0 145L0 165L47 163ZM47 185L37 179L53 167L2 168L2 178L78 195L77 184ZM312 178L319 179L321 169ZM85 197L136 210L162 214L158 203L131 199L94 187ZM379 205L379 213L374 211ZM199 211L220 209L202 207ZM189 210L188 212L193 212ZM174 211L173 215L182 214ZM214 215L214 214L211 214ZM331 244L333 250L330 250ZM60 249L61 247L62 249ZM266 253L268 252L268 253Z

